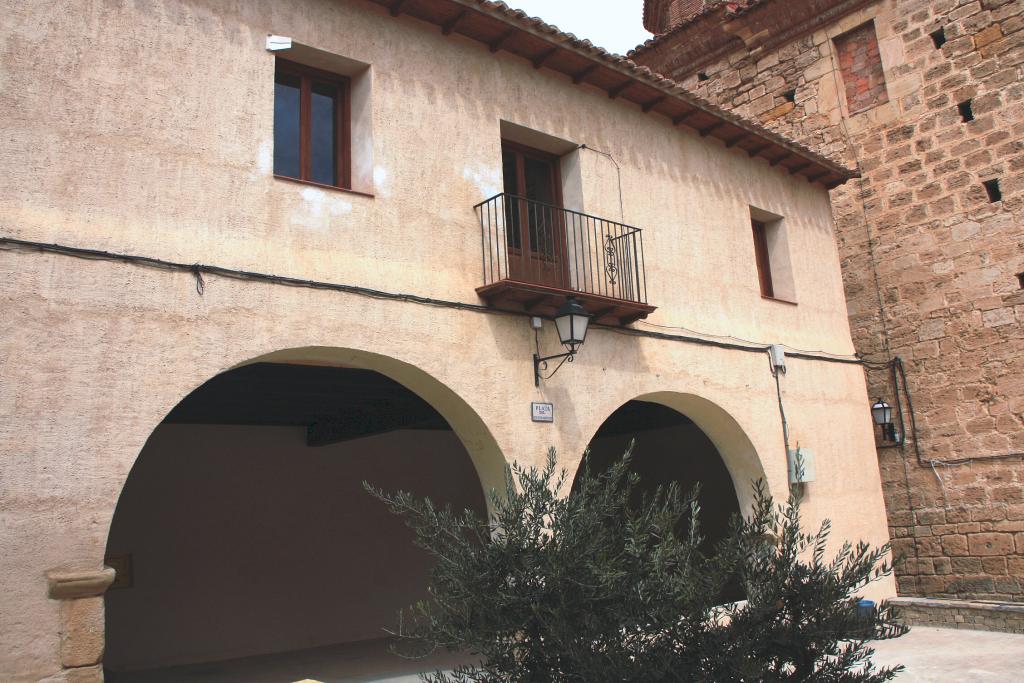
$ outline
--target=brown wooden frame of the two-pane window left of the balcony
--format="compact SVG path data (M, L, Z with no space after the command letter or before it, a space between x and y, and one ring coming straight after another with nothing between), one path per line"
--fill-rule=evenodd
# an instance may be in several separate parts
M346 76L307 67L278 57L274 65L274 81L278 74L288 74L299 79L299 177L283 175L274 169L274 176L288 180L300 180L323 187L352 188L352 126L351 126L351 81ZM313 81L331 83L338 88L335 99L335 165L337 183L329 184L312 179L312 84Z

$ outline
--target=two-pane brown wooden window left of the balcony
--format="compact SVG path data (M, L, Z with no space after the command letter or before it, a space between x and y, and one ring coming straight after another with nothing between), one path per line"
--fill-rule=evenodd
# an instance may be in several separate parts
M348 79L278 59L273 81L273 173L351 186Z

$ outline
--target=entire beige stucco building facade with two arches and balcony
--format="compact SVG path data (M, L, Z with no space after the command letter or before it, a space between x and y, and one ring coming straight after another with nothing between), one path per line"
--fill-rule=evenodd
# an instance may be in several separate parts
M574 470L602 423L640 400L674 409L710 438L740 508L756 478L784 498L781 402L790 443L815 457L815 480L803 485L808 523L830 518L836 544L888 541L863 371L850 361L828 193L798 170L820 167L818 176L834 184L843 178L796 145L759 137L755 127L741 144L730 144L711 126L673 125L658 108L684 95L500 6L386 3L396 10L389 12L382 4L83 0L59 13L48 3L24 3L0 18L8 93L0 103L3 680L100 680L111 578L102 568L132 468L190 392L258 362L361 369L396 381L451 426L473 465L477 494L501 485L506 463L540 463L550 446ZM441 22L438 30L423 20L428 10L461 16L464 26L450 30ZM490 50L473 33L487 23L507 32ZM270 51L268 34L293 46ZM515 54L530 41L550 60ZM274 71L286 53L350 77L356 191L274 177ZM578 59L591 76L573 83L549 68L563 58ZM638 104L588 84L605 72L641 89L665 88L662 100ZM695 116L714 121L707 112ZM594 326L574 362L540 386L528 311L499 311L476 294L484 284L483 219L474 206L503 189L503 137L558 155L566 207L642 228L646 302L656 307L625 327ZM796 163L759 158L772 144ZM772 266L792 301L759 291L752 212L779 221L784 239L772 245ZM539 344L542 352L558 347L550 321ZM780 394L768 344L788 351ZM535 401L553 404L553 423L531 421ZM194 434L187 453L228 436ZM389 447L427 447L401 438ZM262 439L267 449L272 441ZM302 444L296 447L290 457L305 458ZM685 457L680 449L664 457ZM389 457L374 462L384 467ZM431 463L445 462L416 466L436 475ZM372 465L359 476L373 479ZM257 475L240 461L234 481ZM205 476L197 472L197 483ZM187 476L152 479L154 493L176 482L177 495L165 496L168 505L181 504L176 515L191 514L190 499L242 496L236 485L190 488ZM272 512L267 533L271 524L284 525L281 538L288 538L295 535L287 529L327 523L293 514L304 500L302 482L295 486L287 500L264 489L254 505ZM157 498L138 497L142 504ZM228 561L212 548L230 545L230 525L189 524L185 540L205 539L206 550L193 546L188 552L199 554L185 557L188 564ZM359 527L355 519L352 528ZM220 543L210 542L213 533L222 535ZM239 604L249 605L244 621L262 626L260 601L289 591L346 599L308 557L288 562L300 550L279 558L273 570L257 554L233 571L232 585L253 587L236 615ZM153 570L136 556L134 585L119 595L141 591ZM197 581L212 573L199 572ZM173 575L168 582L169 591L186 590ZM373 582L342 588L375 591ZM868 590L873 597L893 592L889 580ZM217 599L211 595L197 604ZM345 604L337 606L339 621L348 618ZM197 613L195 621L202 628L216 618ZM108 634L147 628L105 627ZM153 649L150 659L125 656L122 664L167 666L331 642L330 634L293 635L219 649Z

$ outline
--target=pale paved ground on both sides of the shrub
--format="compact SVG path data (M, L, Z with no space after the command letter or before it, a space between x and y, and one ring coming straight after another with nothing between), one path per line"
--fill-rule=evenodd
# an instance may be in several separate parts
M903 664L897 683L1024 681L1024 635L918 627L874 644L880 665ZM109 676L111 683L416 683L417 672L452 666L452 657L407 661L383 641L322 647L232 661Z

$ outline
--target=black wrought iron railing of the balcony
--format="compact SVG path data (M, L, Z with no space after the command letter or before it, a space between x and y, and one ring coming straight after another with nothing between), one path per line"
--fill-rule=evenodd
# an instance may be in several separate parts
M639 227L504 193L474 208L484 285L514 281L647 303Z

